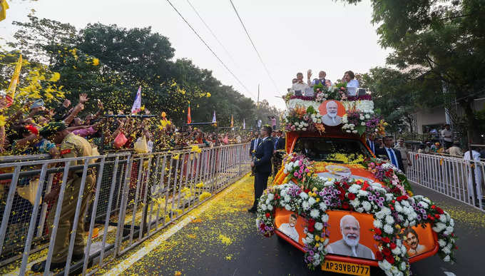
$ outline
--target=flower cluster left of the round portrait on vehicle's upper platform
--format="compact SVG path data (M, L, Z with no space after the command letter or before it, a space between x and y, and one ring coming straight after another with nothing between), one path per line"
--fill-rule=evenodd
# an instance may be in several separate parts
M315 111L313 106L304 107L296 106L290 109L287 116L285 116L285 130L286 131L318 131L325 132L325 127L322 123L322 115Z

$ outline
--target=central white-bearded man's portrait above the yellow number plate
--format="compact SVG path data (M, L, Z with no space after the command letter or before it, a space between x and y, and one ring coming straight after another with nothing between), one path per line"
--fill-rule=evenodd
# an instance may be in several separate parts
M344 215L340 219L340 232L342 239L327 245L329 253L375 260L374 252L359 243L360 225L353 215Z

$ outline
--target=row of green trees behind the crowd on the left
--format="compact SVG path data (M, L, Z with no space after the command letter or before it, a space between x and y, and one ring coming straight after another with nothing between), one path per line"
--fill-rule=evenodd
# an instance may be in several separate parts
M96 23L78 31L70 24L34 15L14 24L19 30L9 46L19 49L30 63L44 66L47 75L60 73L56 86L62 87L73 103L80 93L88 93L92 100L100 99L107 111L129 112L141 86L142 105L154 114L165 111L178 126L186 121L189 102L194 122L210 122L216 111L218 126L229 126L233 115L235 127L242 126L245 118L249 128L257 118L265 122L267 116L279 117L281 113L265 100L256 106L232 86L220 83L212 71L198 68L188 59L173 61L175 49L168 38L149 27L126 29ZM10 79L11 64L18 56L4 54L0 63L2 87L8 86L5 81ZM53 103L61 102L59 95L54 95ZM96 108L96 101L89 101L83 112Z

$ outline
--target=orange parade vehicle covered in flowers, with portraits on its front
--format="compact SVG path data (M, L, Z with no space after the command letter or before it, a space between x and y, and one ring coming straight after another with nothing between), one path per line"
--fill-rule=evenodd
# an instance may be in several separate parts
M317 89L328 96L341 87ZM287 97L287 155L260 198L257 229L305 252L311 269L409 275L409 263L436 253L454 261L454 220L366 145L386 126L369 96L337 101L317 89L313 98Z

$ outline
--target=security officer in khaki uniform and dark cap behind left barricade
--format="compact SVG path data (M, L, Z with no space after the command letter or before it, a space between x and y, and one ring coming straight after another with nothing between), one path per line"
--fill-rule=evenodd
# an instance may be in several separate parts
M92 148L91 144L85 138L76 136L70 133L66 129L66 125L63 122L52 122L41 129L40 135L45 137L53 136L53 141L56 144L61 144L62 158L76 158L83 156L91 156ZM94 161L91 161L93 163ZM84 160L75 160L71 162L71 166L83 165ZM69 240L71 238L71 229L73 228L74 216L76 215L76 205L79 196L79 189L81 188L81 178L83 175L83 169L70 170L68 174L68 180L66 183L66 190L64 191L64 197L62 201L61 214L59 215L59 223L56 235L56 242L54 244L53 256L51 262L51 269L62 268L66 265ZM84 232L84 219L83 214L88 207L88 203L91 200L91 195L95 183L95 173L93 168L88 168L86 172L86 184L84 185L83 193L81 193L81 210L78 213L81 217L78 219L78 225L76 225L76 238L74 240L74 249L72 260L82 260L84 257L84 247L86 246L86 233ZM60 187L52 190L51 193L45 195L44 200L50 201L58 198ZM52 232L55 210L48 214L47 223L49 232ZM32 266L31 270L34 272L43 272L46 267L46 261L36 263Z

